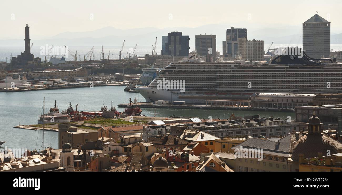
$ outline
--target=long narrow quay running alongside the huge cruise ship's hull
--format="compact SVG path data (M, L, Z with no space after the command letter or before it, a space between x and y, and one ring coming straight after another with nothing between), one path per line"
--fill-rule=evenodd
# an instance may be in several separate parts
M118 105L118 108L125 108L128 103L122 103ZM222 106L222 105L172 105L172 104L155 104L151 102L139 102L133 103L133 107L140 108L173 108L173 109L203 109L203 110L246 110L246 111L279 111L279 112L294 112L294 109L272 109L272 108L254 108L248 106Z

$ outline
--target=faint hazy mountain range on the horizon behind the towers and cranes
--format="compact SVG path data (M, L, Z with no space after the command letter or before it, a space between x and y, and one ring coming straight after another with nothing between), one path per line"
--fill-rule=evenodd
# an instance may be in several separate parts
M234 25L233 25L234 26ZM235 25L236 26L236 25ZM239 25L246 26L246 25ZM158 29L153 27L135 28L122 30L114 27L105 27L86 32L63 32L52 36L50 39L35 40L31 38L34 46L39 45L68 45L68 46L92 46L92 45L118 45L121 46L123 40L126 40L126 47L154 44L158 37L157 47L161 48L161 36L168 35L171 31L181 31L183 35L190 36L190 45L195 45L195 35L216 34L216 44L222 45L225 40L227 25L204 25L196 28L165 28ZM238 27L236 27L238 28ZM264 40L265 44L302 44L301 26L283 26L278 28L248 28L248 40ZM23 38L24 39L24 38ZM23 39L0 40L0 46L22 46ZM342 43L342 33L331 34L331 44ZM118 48L119 49L119 48Z

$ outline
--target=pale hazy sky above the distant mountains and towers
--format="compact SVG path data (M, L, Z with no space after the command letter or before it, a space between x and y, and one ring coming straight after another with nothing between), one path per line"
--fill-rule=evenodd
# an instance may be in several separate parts
M58 0L1 1L0 39L21 39L26 23L36 39L66 31L91 31L107 26L180 28L207 24L243 23L236 28L301 26L318 14L331 22L331 32L342 32L341 0ZM181 30L181 29L178 29Z

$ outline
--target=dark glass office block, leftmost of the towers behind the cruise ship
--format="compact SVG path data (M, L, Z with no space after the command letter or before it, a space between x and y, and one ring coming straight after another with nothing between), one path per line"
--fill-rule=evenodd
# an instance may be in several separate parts
M163 55L188 56L189 54L189 36L182 32L169 32L168 40L165 43L166 53Z

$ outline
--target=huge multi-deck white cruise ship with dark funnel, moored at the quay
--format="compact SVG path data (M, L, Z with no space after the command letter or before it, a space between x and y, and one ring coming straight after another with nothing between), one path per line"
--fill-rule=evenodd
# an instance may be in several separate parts
M205 103L212 99L248 99L254 93L341 93L342 64L305 54L279 55L271 63L245 60L169 64L148 86L135 88L148 102L157 100ZM166 81L183 81L185 90L166 88ZM164 87L160 87L163 83ZM159 85L159 86L158 86Z

